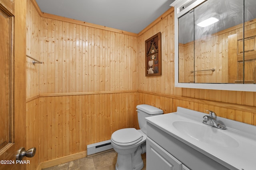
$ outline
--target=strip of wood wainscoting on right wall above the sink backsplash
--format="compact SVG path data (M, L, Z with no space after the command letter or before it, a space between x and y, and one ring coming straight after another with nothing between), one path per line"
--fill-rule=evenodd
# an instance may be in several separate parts
M241 104L232 104L185 96L161 94L155 92L138 92L139 104L149 104L158 107L164 113L177 111L177 107L184 107L207 113L206 110L213 110L217 116L256 125L256 107Z

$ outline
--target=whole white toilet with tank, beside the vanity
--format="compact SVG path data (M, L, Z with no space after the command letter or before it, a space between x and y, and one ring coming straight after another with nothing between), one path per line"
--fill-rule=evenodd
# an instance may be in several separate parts
M161 115L164 112L157 107L141 104L137 107L140 130L125 128L115 131L111 144L118 153L116 170L141 170L144 166L141 154L146 152L146 119L145 117Z

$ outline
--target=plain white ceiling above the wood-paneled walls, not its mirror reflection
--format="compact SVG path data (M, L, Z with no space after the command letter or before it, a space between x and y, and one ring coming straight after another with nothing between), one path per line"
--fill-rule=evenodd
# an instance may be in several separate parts
M36 0L41 11L139 33L170 8L174 0Z

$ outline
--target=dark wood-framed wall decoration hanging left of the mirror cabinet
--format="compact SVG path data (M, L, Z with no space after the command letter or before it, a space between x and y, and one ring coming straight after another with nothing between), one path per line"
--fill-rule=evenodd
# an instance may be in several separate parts
M145 73L146 76L162 75L161 32L145 41Z

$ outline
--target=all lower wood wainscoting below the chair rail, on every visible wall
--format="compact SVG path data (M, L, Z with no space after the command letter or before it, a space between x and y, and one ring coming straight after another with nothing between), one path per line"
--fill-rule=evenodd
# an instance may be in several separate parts
M139 128L138 104L158 107L164 113L175 112L178 106L205 113L210 109L220 117L256 125L254 106L140 90L62 96L42 94L27 101L27 146L38 148L28 169L68 162L74 155L81 158L81 154L86 156L86 145L108 140L118 129Z

